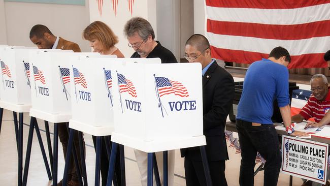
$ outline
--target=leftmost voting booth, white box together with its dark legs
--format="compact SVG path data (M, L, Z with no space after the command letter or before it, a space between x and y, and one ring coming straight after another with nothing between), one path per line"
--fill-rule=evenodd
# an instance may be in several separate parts
M13 111L14 127L16 133L16 143L18 150L18 185L24 185L23 173L23 113L28 112L31 107L30 80L29 80L29 52L40 51L35 47L0 47L0 63L2 69L2 81L0 81L2 99L0 101L0 129L2 124L3 109ZM19 120L17 119L19 113ZM52 179L48 165L44 145L37 124L37 120L32 119L36 124L36 133L42 151L43 160L49 180ZM32 122L30 122L31 124ZM49 137L48 123L46 125L46 136ZM30 127L34 129L34 127ZM30 135L29 135L30 136ZM25 162L26 163L26 162ZM24 175L28 166L24 167Z

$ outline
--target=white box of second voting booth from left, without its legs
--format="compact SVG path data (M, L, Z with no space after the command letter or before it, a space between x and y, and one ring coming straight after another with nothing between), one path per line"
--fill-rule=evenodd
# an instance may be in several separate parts
M72 50L37 51L31 53L30 116L51 122L67 122L71 118L70 60L74 56L100 55L74 53Z

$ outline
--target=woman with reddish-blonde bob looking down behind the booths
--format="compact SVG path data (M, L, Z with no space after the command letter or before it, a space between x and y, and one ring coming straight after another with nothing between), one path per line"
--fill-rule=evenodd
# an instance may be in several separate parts
M124 57L120 50L115 46L118 43L118 37L112 32L111 28L102 21L90 23L83 32L83 38L89 41L93 52L99 52L101 55L117 55Z

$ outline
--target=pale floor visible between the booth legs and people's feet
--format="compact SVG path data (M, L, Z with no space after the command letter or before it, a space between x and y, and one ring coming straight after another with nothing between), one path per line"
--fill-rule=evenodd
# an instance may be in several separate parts
M24 115L24 130L23 130L23 160L25 160L26 143L28 136L28 125L30 117L28 113ZM39 127L41 130L45 129L44 121L39 120ZM53 125L50 123L50 131L53 132ZM46 135L41 131L44 145L47 144ZM52 138L51 134L51 139ZM95 170L95 152L92 146L92 138L90 135L84 135L86 142L86 165L88 184L94 185L94 170ZM64 169L64 159L62 154L62 147L59 143L59 156L58 156L58 177L61 179ZM228 185L239 185L239 169L240 169L240 154L236 154L235 150L228 147L230 160L226 162L226 179ZM125 165L126 165L126 185L141 185L139 177L139 169L135 162L134 151L131 148L125 147ZM17 185L17 148L15 140L15 131L13 125L13 114L8 110L4 110L2 129L0 134L0 185ZM180 158L180 151L176 150L175 160L175 184L185 185L183 159ZM255 176L255 185L263 185L263 172L259 172ZM288 185L289 176L280 174L278 185ZM293 185L301 185L300 178L293 178ZM48 180L46 169L43 163L37 136L34 135L31 151L31 160L29 167L29 175L27 185L51 185Z

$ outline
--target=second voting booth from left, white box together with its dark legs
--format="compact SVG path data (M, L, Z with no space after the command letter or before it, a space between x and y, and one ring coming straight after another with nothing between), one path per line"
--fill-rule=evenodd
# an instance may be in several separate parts
M27 141L26 160L23 176L23 183L26 183L29 157L32 145L32 135L34 126L38 126L37 119L54 123L53 153L49 150L50 160L52 162L53 185L57 185L57 160L58 160L58 125L66 125L71 118L71 95L70 95L70 60L78 56L100 56L99 53L74 53L72 50L58 51L34 51L30 52L30 82L31 82L31 102L30 109L30 131ZM81 135L79 141L82 141ZM48 143L51 147L50 142ZM81 149L82 143L81 143ZM81 153L84 154L84 153ZM78 158L74 153L75 166L77 172L80 172ZM26 171L25 171L26 170ZM86 177L84 171L84 177ZM81 182L81 176L78 174L78 180Z

